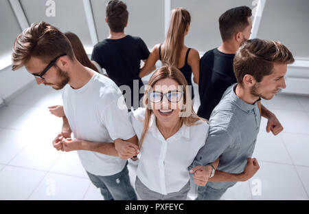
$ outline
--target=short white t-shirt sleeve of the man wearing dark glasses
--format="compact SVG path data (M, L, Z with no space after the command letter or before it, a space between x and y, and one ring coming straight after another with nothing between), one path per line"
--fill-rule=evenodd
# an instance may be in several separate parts
M117 138L128 140L135 136L124 96L118 96L109 103L102 111L101 119L113 140Z

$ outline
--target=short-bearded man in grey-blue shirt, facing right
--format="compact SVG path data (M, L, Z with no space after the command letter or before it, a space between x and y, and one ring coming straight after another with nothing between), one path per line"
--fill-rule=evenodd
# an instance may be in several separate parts
M195 176L195 182L209 180L206 186L198 186L198 200L218 200L236 182L250 178L244 173L248 167L258 171L258 161L251 158L260 130L258 101L270 100L286 87L287 65L293 62L292 53L277 41L252 39L240 46L233 63L237 83L225 91L212 111L205 146L191 165L195 173L199 166L220 158L212 178ZM262 116L269 118L263 111ZM272 131L277 134L282 129L273 127Z

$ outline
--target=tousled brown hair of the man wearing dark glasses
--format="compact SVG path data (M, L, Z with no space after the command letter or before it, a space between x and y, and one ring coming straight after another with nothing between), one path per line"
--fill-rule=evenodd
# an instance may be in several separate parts
M65 34L44 21L32 23L14 41L12 69L23 67L32 56L49 63L63 53L73 60L73 50Z

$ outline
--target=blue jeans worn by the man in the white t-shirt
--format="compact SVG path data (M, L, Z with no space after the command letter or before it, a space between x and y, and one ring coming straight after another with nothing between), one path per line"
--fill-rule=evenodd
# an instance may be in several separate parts
M93 175L87 171L91 182L100 188L104 200L137 200L137 196L130 184L128 167L115 175Z

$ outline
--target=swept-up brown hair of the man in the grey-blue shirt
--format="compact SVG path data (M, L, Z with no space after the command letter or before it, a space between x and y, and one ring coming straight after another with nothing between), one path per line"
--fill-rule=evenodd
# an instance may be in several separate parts
M233 60L233 69L237 82L242 85L246 74L252 75L259 83L273 72L273 63L293 62L293 54L279 41L251 39L240 45Z

